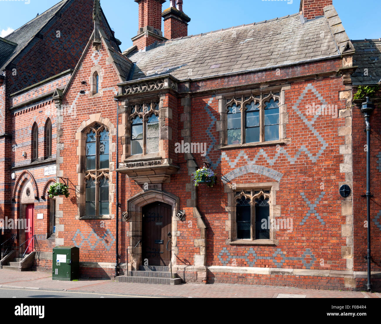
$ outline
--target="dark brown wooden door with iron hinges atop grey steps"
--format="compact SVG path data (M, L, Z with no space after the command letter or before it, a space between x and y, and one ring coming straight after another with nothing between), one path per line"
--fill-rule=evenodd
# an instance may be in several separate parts
M172 207L166 203L150 203L143 207L142 214L142 262L143 265L169 265L170 252L166 244L171 238ZM171 248L171 243L168 249Z

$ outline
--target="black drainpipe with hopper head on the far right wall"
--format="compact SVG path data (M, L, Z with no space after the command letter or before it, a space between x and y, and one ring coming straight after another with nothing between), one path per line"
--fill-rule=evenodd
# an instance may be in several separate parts
M367 132L367 193L365 197L367 197L367 222L368 222L368 248L367 248L367 262L368 262L368 282L367 282L367 290L372 291L372 284L370 282L370 197L373 195L370 193L370 115L375 109L375 105L370 101L369 97L366 97L367 101L363 102L361 105L361 112L365 118L366 132Z

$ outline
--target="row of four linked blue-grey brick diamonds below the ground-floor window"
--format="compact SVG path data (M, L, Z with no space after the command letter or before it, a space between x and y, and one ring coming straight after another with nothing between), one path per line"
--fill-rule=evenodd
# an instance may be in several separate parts
M227 256L227 258L224 259L223 256ZM307 262L306 260L307 256L308 256L308 259L311 259L311 261ZM276 259L279 259L279 257L281 258L281 260L278 262ZM253 248L250 248L247 251L247 253L245 253L244 255L237 255L237 256L234 256L233 254L231 254L227 250L227 248L223 248L221 252L218 254L218 259L221 261L223 265L229 264L229 262L233 259L242 259L246 261L249 267L255 267L255 263L257 260L272 260L277 268L281 268L286 260L299 260L299 261L302 261L306 269L311 269L311 267L314 265L315 261L317 260L315 255L312 254L311 249L306 249L301 257L287 257L286 254L282 251L282 249L276 249L272 256L265 257L265 256L257 256Z

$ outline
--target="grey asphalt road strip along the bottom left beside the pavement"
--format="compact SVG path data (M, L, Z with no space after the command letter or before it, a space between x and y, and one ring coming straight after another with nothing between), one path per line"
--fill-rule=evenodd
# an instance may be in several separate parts
M152 298L135 295L0 288L0 298Z

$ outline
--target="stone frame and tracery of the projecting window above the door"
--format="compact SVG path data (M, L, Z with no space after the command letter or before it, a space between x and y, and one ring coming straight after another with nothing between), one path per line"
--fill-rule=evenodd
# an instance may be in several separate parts
M147 137L148 137L148 120L152 114L155 114L155 116L158 119L158 149L156 152L147 152ZM132 139L132 128L133 128L133 120L139 117L142 120L142 133L143 138L142 143L142 153L132 154L132 142L136 141ZM150 101L150 102L144 102L144 103L134 103L128 106L128 141L129 141L129 150L128 150L128 156L130 157L146 157L150 155L159 155L160 154L160 134L161 134L161 127L160 127L160 102L157 101Z

